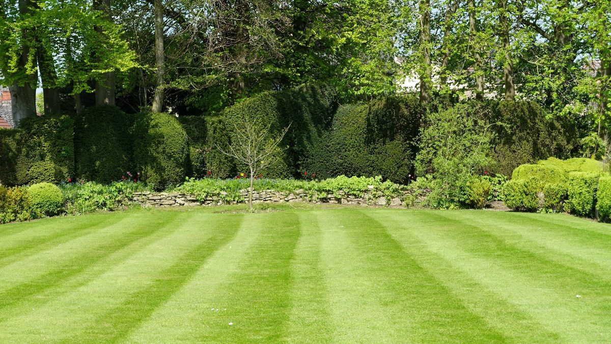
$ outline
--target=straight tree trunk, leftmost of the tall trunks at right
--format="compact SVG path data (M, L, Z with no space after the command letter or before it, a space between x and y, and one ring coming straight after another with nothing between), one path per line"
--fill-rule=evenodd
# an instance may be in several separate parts
M420 103L431 101L431 0L420 0Z

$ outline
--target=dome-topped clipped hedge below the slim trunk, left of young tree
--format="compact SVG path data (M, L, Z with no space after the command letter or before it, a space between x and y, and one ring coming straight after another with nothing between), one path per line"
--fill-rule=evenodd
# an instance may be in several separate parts
M134 160L141 178L163 190L185 180L187 136L168 113L139 113L134 124Z

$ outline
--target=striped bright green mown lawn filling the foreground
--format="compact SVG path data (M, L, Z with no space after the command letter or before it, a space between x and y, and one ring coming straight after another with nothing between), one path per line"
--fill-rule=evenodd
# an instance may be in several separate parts
M513 212L240 209L0 226L0 342L611 338L611 225Z

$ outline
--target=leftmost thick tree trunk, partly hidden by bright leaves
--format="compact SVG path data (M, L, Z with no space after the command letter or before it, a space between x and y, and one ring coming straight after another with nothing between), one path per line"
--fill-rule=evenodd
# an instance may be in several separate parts
M31 12L31 0L19 0L20 15L27 15ZM21 39L23 40L21 54L17 61L18 69L23 71L26 69L30 47L29 43L34 39L32 32L28 29L21 31ZM13 113L13 122L15 126L19 126L22 119L36 116L36 85L38 83L38 73L28 75L27 80L15 83L9 86L11 108Z

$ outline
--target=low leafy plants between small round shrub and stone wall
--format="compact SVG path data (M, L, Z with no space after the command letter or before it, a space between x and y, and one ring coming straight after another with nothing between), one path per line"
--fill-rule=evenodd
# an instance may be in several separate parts
M73 183L61 186L68 214L108 211L128 206L133 193L148 190L142 182L112 182L104 185L97 182Z

